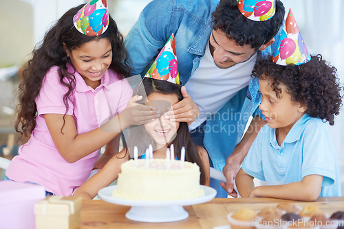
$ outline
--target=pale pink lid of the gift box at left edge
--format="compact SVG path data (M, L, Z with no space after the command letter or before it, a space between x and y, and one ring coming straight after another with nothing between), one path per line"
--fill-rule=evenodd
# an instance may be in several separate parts
M0 181L0 203L14 204L45 199L45 189L36 184L25 184L12 180Z

